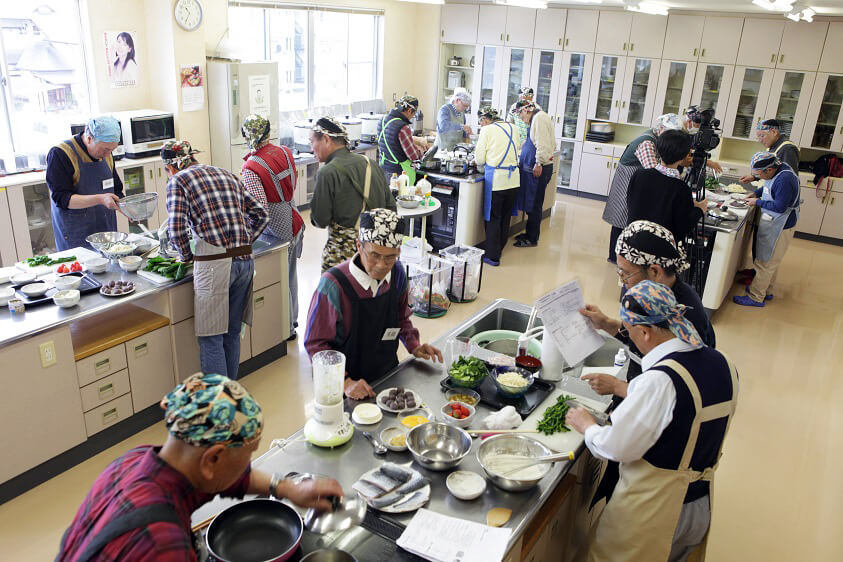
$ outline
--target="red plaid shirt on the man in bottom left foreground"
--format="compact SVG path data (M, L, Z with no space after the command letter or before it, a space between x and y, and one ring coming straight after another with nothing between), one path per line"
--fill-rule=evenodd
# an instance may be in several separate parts
M179 471L164 462L161 447L132 449L97 477L59 549L58 560L75 560L88 543L115 517L152 504L171 505L182 525L152 523L108 543L93 560L181 562L196 560L190 515L214 494L196 490ZM249 488L250 469L220 495L242 498Z

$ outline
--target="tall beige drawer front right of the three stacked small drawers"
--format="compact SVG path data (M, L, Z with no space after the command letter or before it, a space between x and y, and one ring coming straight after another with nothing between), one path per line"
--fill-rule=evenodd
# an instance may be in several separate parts
M132 404L139 412L157 404L176 384L170 328L158 328L126 342Z

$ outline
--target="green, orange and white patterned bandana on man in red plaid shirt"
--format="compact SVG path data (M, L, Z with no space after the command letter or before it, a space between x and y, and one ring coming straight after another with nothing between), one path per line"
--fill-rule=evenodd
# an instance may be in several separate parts
M242 447L260 439L263 412L240 383L195 374L161 400L170 433L195 447Z

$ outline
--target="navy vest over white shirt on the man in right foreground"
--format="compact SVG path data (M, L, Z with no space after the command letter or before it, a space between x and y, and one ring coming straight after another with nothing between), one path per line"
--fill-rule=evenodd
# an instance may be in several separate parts
M711 406L732 400L737 389L732 388L732 375L726 358L710 347L701 347L694 351L671 353L662 361L672 359L685 367L697 384L702 398L702 406ZM660 361L661 362L661 361ZM670 377L676 389L676 406L673 419L662 432L658 441L644 454L644 460L657 468L676 470L682 460L691 425L696 416L694 399L682 377L673 369L658 367ZM702 472L717 463L718 453L726 437L727 418L718 418L700 424L697 446L691 455L691 469ZM708 494L709 483L698 480L688 486L685 503L694 501Z

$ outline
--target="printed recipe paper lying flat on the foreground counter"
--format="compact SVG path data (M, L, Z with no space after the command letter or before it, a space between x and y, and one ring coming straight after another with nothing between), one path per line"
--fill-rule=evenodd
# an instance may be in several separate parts
M492 562L503 560L512 529L419 509L396 544L435 562Z

